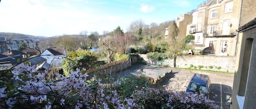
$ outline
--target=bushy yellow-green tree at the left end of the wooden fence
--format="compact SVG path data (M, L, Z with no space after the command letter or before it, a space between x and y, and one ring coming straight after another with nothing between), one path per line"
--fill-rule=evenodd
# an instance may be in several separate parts
M97 63L97 56L88 50L77 50L70 52L67 59L62 62L64 74L68 74L76 68L92 68Z

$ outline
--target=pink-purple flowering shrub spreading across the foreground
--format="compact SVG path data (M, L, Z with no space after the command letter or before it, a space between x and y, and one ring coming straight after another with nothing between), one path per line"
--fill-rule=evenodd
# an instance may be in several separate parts
M46 80L47 71L37 72L35 66L21 64L11 71L13 76L0 77L1 108L218 108L203 94L166 91L148 87L148 81L124 80L120 86L103 84L96 77L87 80L84 69L69 73L69 78L55 74ZM136 78L135 78L136 79ZM137 81L137 82L135 82ZM131 83L133 82L133 83ZM124 85L122 85L124 84ZM122 88L135 86L130 95L122 95Z

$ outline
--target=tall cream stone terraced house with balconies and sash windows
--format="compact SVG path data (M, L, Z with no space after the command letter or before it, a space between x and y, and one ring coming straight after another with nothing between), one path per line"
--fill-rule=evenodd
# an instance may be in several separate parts
M200 4L187 25L195 49L205 54L236 55L241 0L212 0Z

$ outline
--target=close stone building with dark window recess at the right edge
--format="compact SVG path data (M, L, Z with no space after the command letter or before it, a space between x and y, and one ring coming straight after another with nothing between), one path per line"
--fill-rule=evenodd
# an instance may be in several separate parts
M242 0L231 109L255 108L256 1Z

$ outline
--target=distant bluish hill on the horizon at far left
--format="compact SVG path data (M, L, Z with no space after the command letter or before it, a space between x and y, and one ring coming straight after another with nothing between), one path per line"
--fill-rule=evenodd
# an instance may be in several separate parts
M25 35L19 33L3 33L0 32L0 37L5 37L9 39L46 39L46 36L32 36L32 35Z

